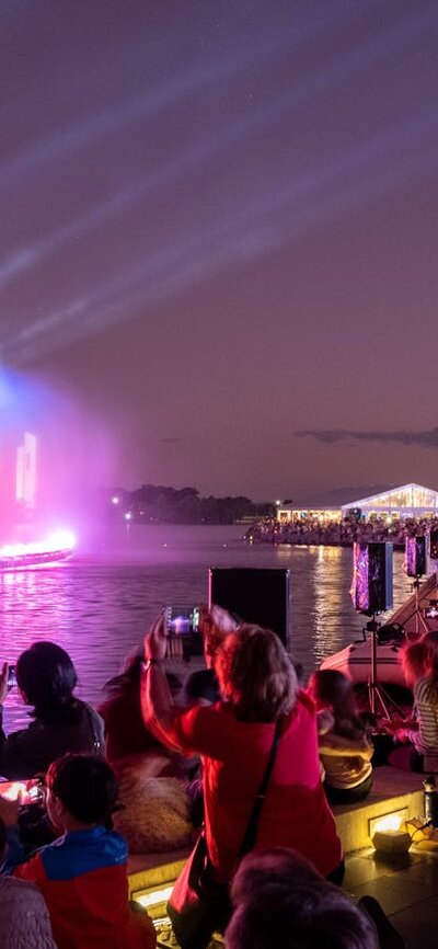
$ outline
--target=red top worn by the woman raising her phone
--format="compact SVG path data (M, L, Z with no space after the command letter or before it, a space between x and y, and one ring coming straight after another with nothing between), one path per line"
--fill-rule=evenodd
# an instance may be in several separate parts
M189 713L188 713L189 716ZM273 741L274 723L240 722L227 704L194 710L205 766L209 854L219 879L228 879ZM205 738L203 735L205 732ZM237 780L239 775L239 780ZM315 718L300 693L285 716L276 762L260 819L257 848L293 846L331 873L342 859L333 816L321 786Z

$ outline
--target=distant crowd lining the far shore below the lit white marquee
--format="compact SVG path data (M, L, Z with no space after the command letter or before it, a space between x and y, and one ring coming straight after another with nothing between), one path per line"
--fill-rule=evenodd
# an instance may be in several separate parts
M403 517L388 519L373 517L369 521L320 521L318 517L300 517L299 521L280 523L274 517L257 521L246 533L246 540L255 544L304 544L327 547L349 547L356 541L371 542L390 540L403 547L406 537L438 530L438 519L428 517Z

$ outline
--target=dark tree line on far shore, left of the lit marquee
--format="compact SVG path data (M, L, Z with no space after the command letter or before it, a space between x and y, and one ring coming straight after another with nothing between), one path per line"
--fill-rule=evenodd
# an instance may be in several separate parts
M114 498L117 503L114 503ZM113 493L113 516L129 514L136 523L235 524L250 518L272 516L274 504L255 504L243 495L201 498L196 488L166 488L143 484L134 491Z

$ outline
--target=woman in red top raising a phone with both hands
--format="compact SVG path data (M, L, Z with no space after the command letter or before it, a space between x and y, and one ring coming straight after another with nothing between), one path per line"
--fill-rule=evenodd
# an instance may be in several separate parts
M166 637L161 618L145 638L145 721L155 734L204 766L206 848L212 894L232 879L262 779L273 762L255 830L255 849L295 847L323 876L341 882L341 841L320 778L315 709L299 689L278 636L243 625L226 636L215 658L221 700L177 709L172 705L162 660ZM184 907L170 901L178 944L208 945L223 926L228 907L208 906L199 929L188 935ZM197 924L196 924L197 925Z

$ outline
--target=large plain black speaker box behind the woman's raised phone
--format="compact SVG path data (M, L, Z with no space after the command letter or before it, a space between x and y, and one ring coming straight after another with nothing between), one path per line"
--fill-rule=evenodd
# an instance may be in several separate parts
M217 603L238 619L273 629L289 644L289 570L252 567L208 571L208 604Z

